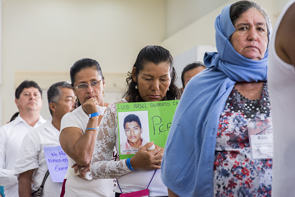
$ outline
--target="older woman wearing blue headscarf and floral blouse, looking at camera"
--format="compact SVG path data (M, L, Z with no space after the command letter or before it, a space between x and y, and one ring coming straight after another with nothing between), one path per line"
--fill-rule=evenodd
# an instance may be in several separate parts
M268 134L272 121L269 18L255 2L239 1L224 7L215 30L218 53L205 54L207 69L183 92L161 178L169 196L270 196L272 159L257 159L249 141Z

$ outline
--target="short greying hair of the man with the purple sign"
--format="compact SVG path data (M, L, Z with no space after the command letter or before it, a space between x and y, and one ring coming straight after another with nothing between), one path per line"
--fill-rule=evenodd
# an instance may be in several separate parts
M48 105L51 102L58 102L58 100L61 97L60 89L66 87L72 89L70 82L57 82L55 84L52 84L49 89L47 90L47 100ZM52 115L52 110L49 108L50 114Z

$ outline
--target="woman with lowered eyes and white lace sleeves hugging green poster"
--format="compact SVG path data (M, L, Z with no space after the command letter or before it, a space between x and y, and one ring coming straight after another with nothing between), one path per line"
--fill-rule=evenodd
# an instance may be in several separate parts
M99 132L90 165L95 179L117 178L116 196L144 190L149 185L150 196L168 196L167 187L160 178L163 148L153 142L142 146L130 159L111 161L114 146L119 150L117 103L175 100L180 98L176 86L176 72L170 52L160 46L143 48L128 72L127 91L124 98L109 105L99 125ZM154 175L154 176L153 176ZM153 178L152 178L153 177ZM118 185L117 184L117 185Z

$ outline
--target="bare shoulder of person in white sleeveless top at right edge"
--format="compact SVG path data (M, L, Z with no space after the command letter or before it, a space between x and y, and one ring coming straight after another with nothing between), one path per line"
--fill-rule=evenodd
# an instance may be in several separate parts
M295 66L295 3L285 13L278 28L275 49L279 58Z

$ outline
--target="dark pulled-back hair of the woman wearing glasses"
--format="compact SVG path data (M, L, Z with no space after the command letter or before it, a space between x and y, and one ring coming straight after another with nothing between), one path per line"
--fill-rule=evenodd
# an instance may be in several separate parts
M100 76L102 78L104 78L104 76L102 75L102 71L99 66L99 63L96 60L90 59L90 58L82 58L82 59L76 61L70 69L72 88L74 88L76 74L78 72L80 72L81 70L87 69L87 68L95 68L98 71L98 73L100 74ZM102 79L102 80L104 80L104 79ZM81 105L79 100L78 100L77 105L78 105L78 107Z

